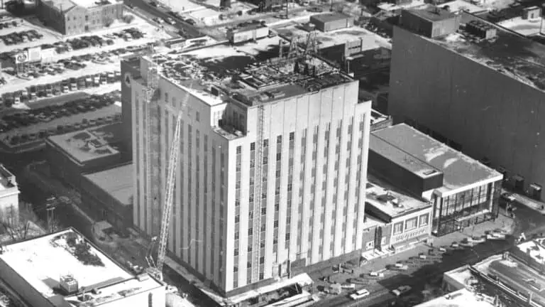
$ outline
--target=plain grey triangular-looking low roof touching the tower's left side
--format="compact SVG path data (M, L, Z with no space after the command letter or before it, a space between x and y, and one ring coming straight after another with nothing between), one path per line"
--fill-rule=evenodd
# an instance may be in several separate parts
M87 180L112 195L119 203L131 205L133 195L133 164L84 175Z

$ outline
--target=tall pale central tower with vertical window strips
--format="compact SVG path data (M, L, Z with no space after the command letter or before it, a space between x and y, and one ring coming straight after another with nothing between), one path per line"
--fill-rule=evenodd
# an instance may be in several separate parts
M157 52L128 81L135 225L160 231L182 112L167 249L224 296L362 247L370 102L314 56L260 61L263 41Z

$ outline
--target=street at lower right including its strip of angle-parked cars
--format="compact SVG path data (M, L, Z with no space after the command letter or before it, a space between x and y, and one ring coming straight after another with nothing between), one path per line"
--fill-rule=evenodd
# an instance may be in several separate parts
M316 303L315 306L356 307L363 306L363 304L365 304L365 306L385 306L385 304L395 299L390 291L396 289L398 286L412 286L412 293L419 295L420 291L424 289L426 283L429 284L431 281L434 281L434 279L439 281L445 271L456 269L458 266L462 266L463 264L473 264L475 262L479 262L480 260L490 257L493 254L498 254L510 249L514 246L515 238L518 237L521 232L524 232L527 237L545 232L544 215L541 215L539 212L536 212L524 205L515 204L515 206L517 207L517 210L516 222L513 225L514 233L512 236L508 236L506 240L491 240L477 244L473 248L460 247L459 249L455 249L452 252L443 255L436 251L437 256L428 258L431 261L428 259L422 261L417 257L420 252L427 253L429 247L424 245L411 249L407 252L396 254L392 257L375 259L363 266L363 268L358 269L358 275L360 277L358 281L365 281L358 282L357 287L358 289L368 289L372 293L370 296L368 296L368 298L359 301L351 301L351 299L348 298L348 293L350 292L345 291L338 296L324 297L323 300ZM434 240L434 247L436 249L441 246L449 247L453 241L461 242L463 237L471 237L473 235L479 236L482 235L485 230L502 228L502 225L505 225L507 220L509 220L508 217L500 215L500 218L498 218L495 223L485 222L483 224L476 225L475 228L468 227L463 232L455 232L444 237L436 238ZM388 264L395 264L397 261L404 262L409 266L409 269L407 271L402 271L399 274L393 271L385 271L384 279L377 281L370 279L368 274L370 271L385 269ZM314 277L315 276L313 276L313 278ZM357 278L358 276L354 277ZM350 279L346 279L346 276L343 276L343 279L345 280L335 278L335 276L331 278L332 281L339 283L351 282Z

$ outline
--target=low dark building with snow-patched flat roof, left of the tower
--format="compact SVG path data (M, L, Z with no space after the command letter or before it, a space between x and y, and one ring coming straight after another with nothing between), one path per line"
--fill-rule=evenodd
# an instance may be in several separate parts
M82 173L121 163L121 153L93 130L49 136L45 145L51 175L78 189Z

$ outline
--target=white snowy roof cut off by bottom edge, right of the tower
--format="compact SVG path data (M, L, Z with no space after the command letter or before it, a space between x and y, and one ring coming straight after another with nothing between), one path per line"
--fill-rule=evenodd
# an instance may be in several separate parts
M461 289L448 293L444 296L439 296L431 301L420 303L415 307L493 307L494 298L483 298L467 289Z

